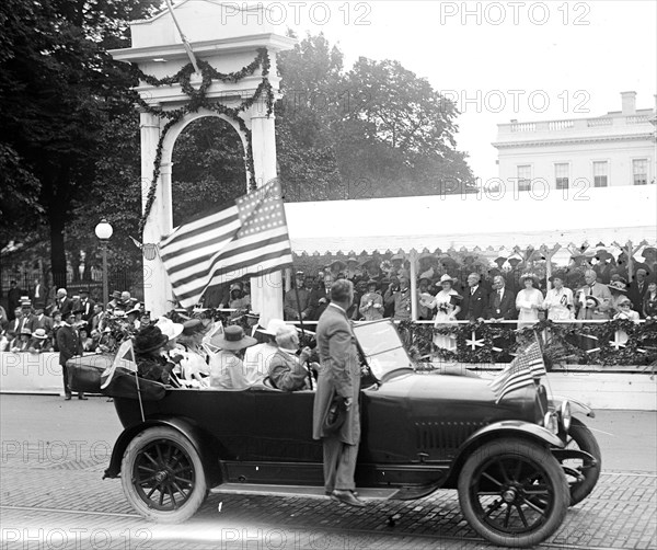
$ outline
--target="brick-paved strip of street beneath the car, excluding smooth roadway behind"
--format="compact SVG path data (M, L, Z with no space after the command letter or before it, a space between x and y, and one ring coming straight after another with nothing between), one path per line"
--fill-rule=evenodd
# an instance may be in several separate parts
M182 526L149 524L127 504L106 459L58 449L3 457L0 523L4 548L494 548L463 519L456 491L354 509L327 499L210 495ZM72 458L71 458L72 457ZM219 511L220 506L220 511ZM657 548L657 477L606 472L569 509L544 548ZM399 514L394 528L388 518Z

